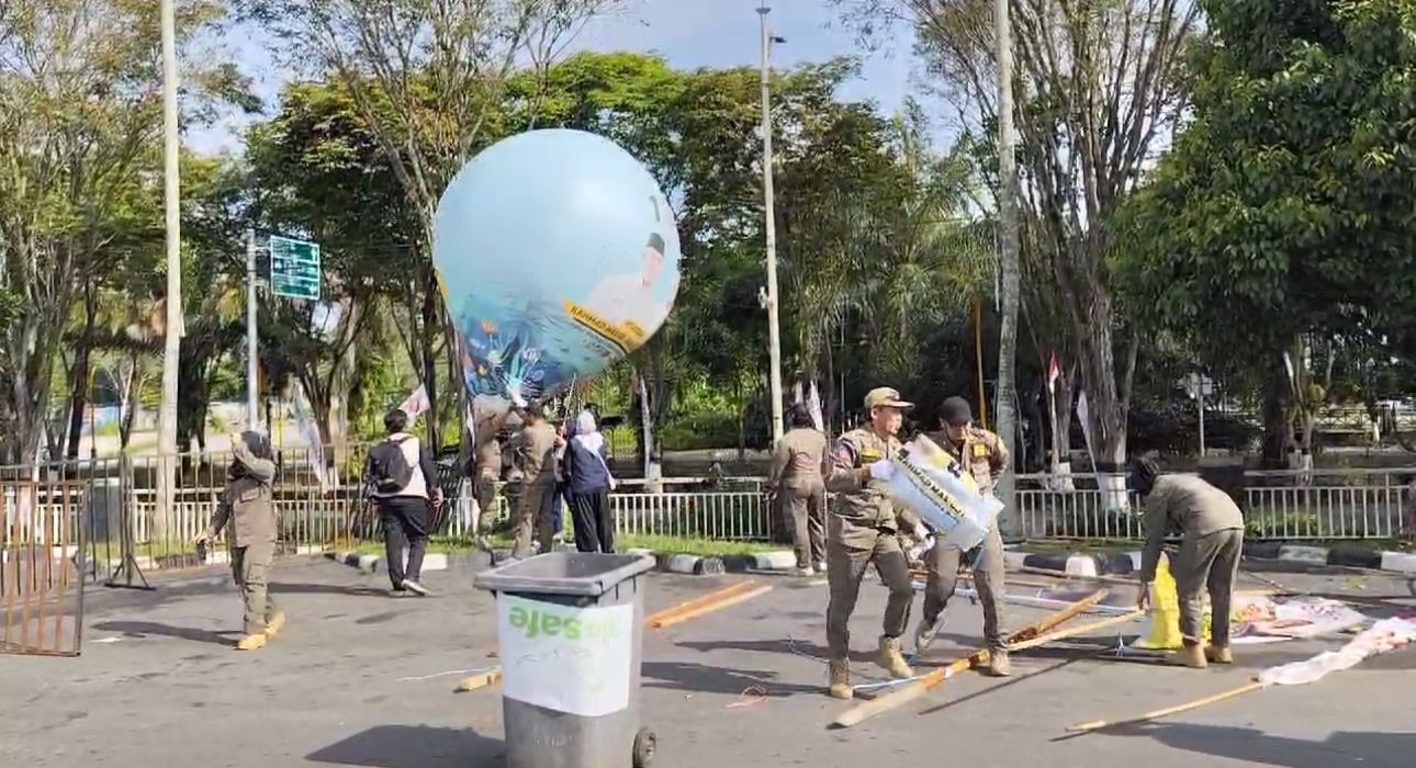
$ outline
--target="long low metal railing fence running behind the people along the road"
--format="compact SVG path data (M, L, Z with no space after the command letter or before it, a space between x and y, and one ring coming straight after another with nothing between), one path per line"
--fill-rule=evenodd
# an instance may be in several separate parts
M324 468L307 448L279 455L275 501L280 545L286 553L346 549L379 537L378 522L362 501L362 450L330 450ZM183 455L171 462L177 491L167 515L160 512L156 457L110 458L40 467L41 484L72 487L89 498L91 574L122 562L119 533L126 526L142 566L195 563L191 543L211 518L225 484L229 457ZM0 478L16 477L0 468ZM1403 498L1416 470L1314 470L1308 472L1246 472L1238 501L1255 539L1389 539L1402 533L1403 512L1416 499ZM440 532L469 536L473 525L470 484L445 461L439 484L449 505ZM1018 475L1018 513L1028 539L1141 537L1131 498L1126 508L1114 492L1097 488L1095 475L1076 474L1069 488L1048 475ZM762 478L664 478L653 484L624 479L610 498L619 529L632 536L772 540L783 522L763 494ZM508 512L498 495L497 518Z

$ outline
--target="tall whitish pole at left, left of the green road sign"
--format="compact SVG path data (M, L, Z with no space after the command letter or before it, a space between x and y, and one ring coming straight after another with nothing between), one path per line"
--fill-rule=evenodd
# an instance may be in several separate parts
M157 414L157 520L166 536L173 515L177 470L177 366L181 358L181 208L177 124L177 14L174 0L161 0L163 25L163 204L167 229L167 322L163 344L163 402Z

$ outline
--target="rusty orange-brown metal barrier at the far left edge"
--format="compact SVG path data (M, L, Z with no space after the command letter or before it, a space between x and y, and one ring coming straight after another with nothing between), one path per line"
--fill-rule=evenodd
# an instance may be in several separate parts
M86 508L79 482L0 482L0 653L79 653Z

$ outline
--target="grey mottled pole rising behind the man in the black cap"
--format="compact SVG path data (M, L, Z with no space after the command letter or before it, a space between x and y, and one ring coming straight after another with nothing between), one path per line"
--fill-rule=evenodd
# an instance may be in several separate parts
M1008 453L1014 453L1017 433L1014 396L1014 362L1018 354L1018 165L1014 157L1017 139L1012 129L1012 23L1008 18L1008 1L994 0L994 40L998 45L998 255L1003 272L1000 293L1003 318L998 332L998 437ZM1008 537L1022 536L1022 519L1018 513L1018 494L1012 472L1004 472L998 484L998 498L1004 512L998 518L1000 533Z

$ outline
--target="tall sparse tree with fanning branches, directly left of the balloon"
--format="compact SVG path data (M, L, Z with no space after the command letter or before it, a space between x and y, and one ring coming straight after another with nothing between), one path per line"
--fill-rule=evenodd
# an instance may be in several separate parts
M242 0L285 41L296 66L343 85L415 214L416 270L405 280L408 338L440 444L439 361L450 356L432 266L443 190L501 136L503 98L518 57L544 71L590 17L617 0ZM313 61L310 61L313 58ZM446 369L446 368L445 368Z

